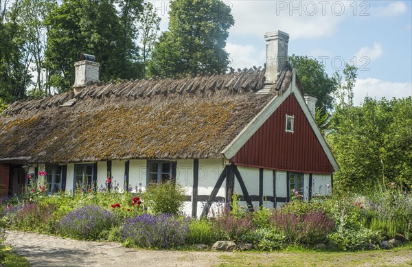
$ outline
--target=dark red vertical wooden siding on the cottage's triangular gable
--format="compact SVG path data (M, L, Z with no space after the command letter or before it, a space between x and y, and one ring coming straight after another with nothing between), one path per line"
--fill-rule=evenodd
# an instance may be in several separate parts
M293 133L285 132L286 114L295 116ZM334 172L293 94L284 100L231 161L237 165L291 172Z

